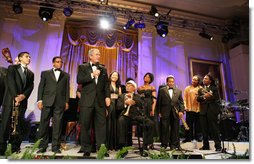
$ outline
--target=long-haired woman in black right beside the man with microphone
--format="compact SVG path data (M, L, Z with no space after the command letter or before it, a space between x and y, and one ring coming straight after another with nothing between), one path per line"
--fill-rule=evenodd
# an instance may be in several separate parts
M118 72L114 71L109 75L111 104L107 116L107 147L109 150L117 150L117 120L119 117L116 110L116 102L121 91L121 81Z

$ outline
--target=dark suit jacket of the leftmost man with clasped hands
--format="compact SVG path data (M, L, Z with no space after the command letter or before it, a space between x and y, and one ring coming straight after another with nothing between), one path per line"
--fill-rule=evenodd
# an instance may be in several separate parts
M22 81L21 65L10 65L7 70L6 86L3 106L12 107L14 98L24 94L26 98L20 103L20 108L27 108L27 100L34 88L34 73L27 69L26 84Z

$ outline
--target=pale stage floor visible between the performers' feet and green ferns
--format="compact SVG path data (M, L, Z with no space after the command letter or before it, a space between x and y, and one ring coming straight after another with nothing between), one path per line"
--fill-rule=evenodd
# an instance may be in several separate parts
M21 153L16 154L18 156L22 156L22 154L25 152L26 148L32 147L33 143L26 143L23 142L21 145ZM183 150L181 151L170 151L169 148L166 149L167 153L171 153L176 158L179 158L181 155L185 155L188 157L188 159L228 159L231 154L234 153L234 146L235 146L235 154L236 155L243 155L246 150L249 150L249 142L224 142L224 148L226 148L226 153L222 152L216 152L214 149L213 141L210 141L210 148L211 150L199 150L200 147L202 147L202 142L196 142L195 140L192 142L182 143L181 142L181 148ZM128 154L124 157L124 159L130 159L130 160L144 160L144 159L151 159L150 157L143 157L140 155L138 151L138 144L137 141L134 140L133 144L134 149L129 150ZM74 158L74 159L83 159L82 153L77 153L80 149L79 145L76 145L73 142L67 142L65 144L65 149L62 149L61 154L55 154L56 159L67 159L66 157ZM109 157L105 157L104 159L116 159L116 154L118 151L108 151ZM154 149L149 150L150 153L160 153L160 143L154 144ZM43 156L53 156L54 153L51 152L51 146L49 145L47 152L44 154L37 154L37 155L43 155ZM97 154L91 153L91 159L96 159ZM0 157L5 158L5 157ZM9 157L9 159L12 159ZM181 157L180 157L181 159ZM89 160L89 159L87 159ZM175 159L177 160L177 159Z

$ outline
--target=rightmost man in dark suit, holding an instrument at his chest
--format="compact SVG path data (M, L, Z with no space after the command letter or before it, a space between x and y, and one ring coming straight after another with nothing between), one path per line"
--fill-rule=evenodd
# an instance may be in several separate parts
M208 136L211 134L215 150L221 151L220 131L218 115L220 113L220 96L215 81L210 74L203 79L204 87L198 90L197 100L200 102L200 123L203 133L203 147L201 150L209 150Z

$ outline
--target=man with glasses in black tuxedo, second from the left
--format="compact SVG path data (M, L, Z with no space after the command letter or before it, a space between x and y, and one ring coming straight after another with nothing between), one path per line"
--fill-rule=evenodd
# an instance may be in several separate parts
M43 71L38 87L38 108L41 110L39 139L42 139L38 153L46 152L49 142L48 129L50 118L52 125L52 151L61 153L60 136L62 117L68 109L70 95L70 76L61 70L62 58L56 56L52 60L53 69Z

